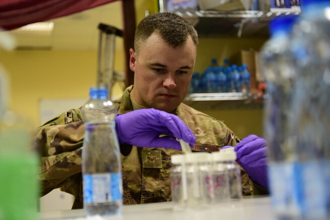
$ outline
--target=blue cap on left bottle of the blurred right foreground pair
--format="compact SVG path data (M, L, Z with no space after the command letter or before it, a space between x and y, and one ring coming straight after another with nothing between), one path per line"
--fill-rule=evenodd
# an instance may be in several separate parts
M297 15L285 15L276 17L270 23L271 35L273 36L280 32L290 34L292 27L298 18L299 17Z

